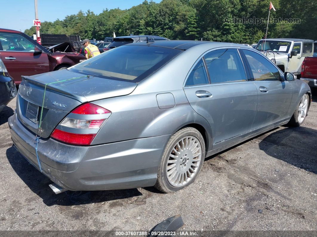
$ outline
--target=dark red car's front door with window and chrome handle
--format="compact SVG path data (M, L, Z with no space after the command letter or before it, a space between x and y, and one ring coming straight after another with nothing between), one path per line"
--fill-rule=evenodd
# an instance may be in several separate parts
M21 75L30 76L49 72L48 55L34 53L37 45L18 33L0 32L0 56L9 74L16 84L20 84Z

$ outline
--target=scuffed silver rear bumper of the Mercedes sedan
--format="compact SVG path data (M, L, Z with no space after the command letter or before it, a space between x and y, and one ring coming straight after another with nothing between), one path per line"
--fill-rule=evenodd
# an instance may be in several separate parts
M14 146L37 169L36 136L16 115L9 118ZM153 186L170 135L140 138L90 147L40 139L42 172L67 190L114 190Z

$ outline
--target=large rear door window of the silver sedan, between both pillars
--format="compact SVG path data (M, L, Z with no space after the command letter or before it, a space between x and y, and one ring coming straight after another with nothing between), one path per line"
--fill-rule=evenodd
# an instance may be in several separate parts
M246 81L246 74L237 49L219 49L204 56L211 84Z

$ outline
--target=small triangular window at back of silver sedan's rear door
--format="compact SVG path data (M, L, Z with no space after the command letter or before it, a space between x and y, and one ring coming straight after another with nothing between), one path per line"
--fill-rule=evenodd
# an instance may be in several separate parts
M185 86L208 84L208 76L203 59L200 59L196 66L189 74Z

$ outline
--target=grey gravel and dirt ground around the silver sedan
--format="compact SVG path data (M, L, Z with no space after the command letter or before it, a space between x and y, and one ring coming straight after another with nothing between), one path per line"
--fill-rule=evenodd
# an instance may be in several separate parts
M0 115L0 230L142 230L181 214L183 230L317 230L317 93L302 127L280 127L205 160L176 193L139 188L55 195Z

